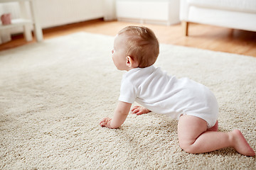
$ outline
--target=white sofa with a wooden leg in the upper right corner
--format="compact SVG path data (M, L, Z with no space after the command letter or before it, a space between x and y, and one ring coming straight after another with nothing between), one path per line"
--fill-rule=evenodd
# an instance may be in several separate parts
M188 23L256 31L256 0L181 0L184 34Z

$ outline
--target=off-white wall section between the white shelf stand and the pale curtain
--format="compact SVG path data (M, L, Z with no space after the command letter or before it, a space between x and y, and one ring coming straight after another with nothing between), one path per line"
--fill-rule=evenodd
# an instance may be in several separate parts
M38 0L43 28L88 21L104 16L104 0Z

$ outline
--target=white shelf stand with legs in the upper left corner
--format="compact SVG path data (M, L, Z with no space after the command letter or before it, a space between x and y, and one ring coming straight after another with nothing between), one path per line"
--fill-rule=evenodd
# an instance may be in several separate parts
M31 18L28 16L26 10L25 2L28 1L31 11ZM16 18L11 20L11 24L2 25L0 24L0 44L3 40L10 39L9 30L11 28L23 27L23 33L27 41L32 40L31 26L33 26L34 34L36 35L36 40L39 42L43 40L43 33L41 26L38 21L38 16L36 13L36 0L0 0L0 3L18 2L21 10L21 18Z

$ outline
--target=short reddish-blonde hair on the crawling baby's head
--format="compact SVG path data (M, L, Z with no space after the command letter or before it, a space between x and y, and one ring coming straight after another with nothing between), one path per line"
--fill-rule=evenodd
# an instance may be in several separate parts
M141 68L149 67L159 56L159 41L152 30L141 26L127 26L118 35L127 35L127 56L138 62Z

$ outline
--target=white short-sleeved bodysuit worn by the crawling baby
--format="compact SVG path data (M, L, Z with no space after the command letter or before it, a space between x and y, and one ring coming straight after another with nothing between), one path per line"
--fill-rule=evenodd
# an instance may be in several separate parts
M131 69L123 75L119 101L137 101L154 113L176 120L181 115L194 115L206 120L208 128L218 118L218 102L206 86L169 76L154 65Z

